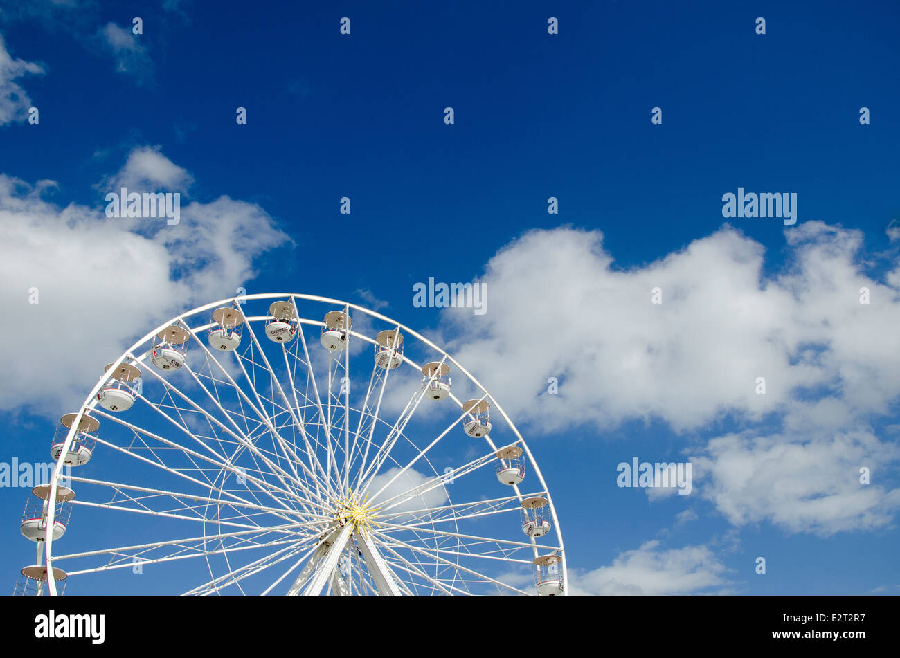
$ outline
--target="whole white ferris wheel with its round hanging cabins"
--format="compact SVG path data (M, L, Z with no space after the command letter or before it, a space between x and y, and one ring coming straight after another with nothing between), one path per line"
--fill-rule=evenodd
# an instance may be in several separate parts
M106 366L50 452L23 593L567 591L553 500L498 402L337 299L172 318Z

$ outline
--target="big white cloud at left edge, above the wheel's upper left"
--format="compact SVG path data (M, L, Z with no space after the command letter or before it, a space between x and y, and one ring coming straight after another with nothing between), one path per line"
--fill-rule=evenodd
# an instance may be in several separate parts
M288 240L264 209L227 196L193 201L168 226L60 207L45 198L53 187L0 174L0 333L13 373L0 381L6 410L57 416L79 405L131 342L185 308L233 294L255 275L257 255Z

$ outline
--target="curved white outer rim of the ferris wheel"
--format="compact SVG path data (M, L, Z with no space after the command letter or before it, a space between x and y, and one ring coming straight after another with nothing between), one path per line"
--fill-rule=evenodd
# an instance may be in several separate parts
M180 314L174 316L173 318L168 320L166 323L158 325L155 329L148 332L146 335L144 335L138 341L134 342L128 350L122 352L121 356L117 360L113 360L112 363L110 363L108 366L106 366L106 369L107 370L120 369L126 360L139 360L139 361L143 362L143 360L146 359L147 354L144 353L144 354L140 354L138 356L138 355L134 354L134 351L136 351L139 348L139 346L152 340L152 338L154 336L157 336L157 334L159 334L160 332L163 332L164 330L166 330L166 327L168 327L170 325L174 325L176 322L181 322L183 325L187 326L187 323L184 321L185 317L196 316L197 314L200 314L203 311L218 308L223 304L235 305L236 307L238 307L238 309L240 309L240 305L242 303L244 303L245 301L257 300L257 299L270 299L270 298L290 298L291 304L294 307L295 313L296 313L296 304L294 302L294 299L303 299L303 300L312 301L312 302L319 302L322 304L344 307L345 312L347 314L349 314L350 310L353 309L355 311L365 314L366 316L371 316L375 319L381 320L382 322L388 323L389 325L395 325L398 329L402 329L404 332L409 333L410 336L416 338L419 342L422 342L423 344L428 345L428 347L437 351L439 354L443 355L444 358L446 360L448 360L450 363L452 363L455 366L455 368L459 369L459 371L462 374L464 374L464 376L466 378L468 378L475 385L475 387L478 387L481 390L481 392L484 394L481 398L482 400L484 400L485 398L490 398L493 408L498 413L500 413L500 416L507 422L509 430L511 430L513 432L513 434L515 435L517 440L514 441L514 443L517 445L520 444L522 449L524 450L525 454L527 455L528 461L531 463L532 467L534 468L535 476L537 477L538 482L540 483L540 485L546 495L547 505L549 507L551 518L554 523L556 539L557 539L557 543L559 545L554 550L553 555L558 555L560 557L560 562L562 564L563 592L566 594L569 592L568 569L567 569L567 565L566 565L566 555L565 555L565 549L564 549L562 528L560 526L559 518L558 518L558 515L556 512L555 506L554 506L553 496L550 493L549 487L546 485L543 473L541 472L540 467L538 466L537 461L531 452L531 449L529 449L529 447L527 445L527 441L522 436L521 432L518 431L518 427L516 426L515 422L513 422L509 418L509 414L506 413L506 411L503 409L503 407L500 405L500 403L496 400L496 398L491 395L491 392L486 387L484 387L484 385L482 385L482 383L477 378L475 378L468 369L466 369L461 363L459 363L459 361L455 360L455 358L451 354L449 354L446 350L444 350L442 347L440 347L436 343L430 341L427 337L423 336L421 333L417 332L415 329L412 329L408 325L404 325L403 323L400 323L391 317L383 316L382 314L378 313L377 311L371 310L362 305L355 304L352 302L347 302L347 301L344 301L341 299L336 299L336 298L327 298L327 297L321 297L318 295L308 295L305 293L289 293L289 292L281 292L281 293L269 292L269 293L254 293L254 294L250 294L250 295L237 295L234 297L222 298L222 299L214 301L214 302L203 304L200 307L194 307L190 310L184 311L183 313L180 313ZM241 315L243 316L243 309L240 309L240 311L241 311ZM260 320L265 319L265 317L266 316L244 316L244 322L247 325L250 325L254 321L260 321ZM302 322L302 324L310 324L310 325L324 325L325 324L322 321L309 320L307 318L303 318L301 320L298 317L298 320L300 320ZM305 320L305 322L303 322L303 320ZM193 334L193 336L195 338L197 338L199 341L199 337L197 336L197 333L203 331L205 328L208 328L212 324L214 324L214 323L208 323L207 325L198 325L198 327L196 327L196 328L189 327L189 333ZM347 333L349 333L351 336L356 336L356 337L362 338L367 342L374 343L374 340L372 340L368 336L365 336L365 334L352 331L352 329L350 327L347 327ZM348 358L349 358L349 355L347 353L347 359ZM416 364L415 361L410 360L405 355L401 355L401 359L404 362L410 363L410 365L419 369L419 365ZM73 422L71 423L71 428L67 431L66 438L62 443L62 448L60 450L57 464L56 464L56 467L54 468L53 474L51 476L50 489L49 489L50 497L55 496L57 494L58 483L59 483L60 476L62 474L62 468L64 466L65 455L66 455L67 449L69 449L69 447L71 446L74 436L76 435L78 426L81 423L82 418L85 415L88 415L89 412L94 410L94 407L97 405L96 395L103 388L103 384L107 379L108 379L108 376L107 376L106 372L104 372L103 375L97 380L97 383L94 385L94 388L91 390L91 392L85 398L85 402L78 408L78 411L75 413L75 418L73 419ZM461 406L463 405L463 403L461 403L458 400L456 400L456 403ZM483 438L488 441L488 443L490 444L491 449L493 451L498 450L498 447L493 443L490 436L485 435ZM522 499L521 495L519 495L518 497L520 500ZM48 510L48 525L50 527L52 527L52 524L54 522L54 513L55 513L54 506L50 505L49 510ZM53 535L53 533L48 533L47 538L44 541L44 556L47 560L47 566L48 566L48 574L47 574L48 593L51 596L56 596L58 592L57 592L57 588L56 588L56 579L54 577L55 576L54 569L49 568L50 566L52 566L52 561L53 561L53 556L52 556L52 552L51 552L52 544L53 544L52 535ZM535 548L535 552L537 553L537 551L540 547L538 545L536 545L536 543L534 542L534 538L531 538L531 539L532 539L532 546Z

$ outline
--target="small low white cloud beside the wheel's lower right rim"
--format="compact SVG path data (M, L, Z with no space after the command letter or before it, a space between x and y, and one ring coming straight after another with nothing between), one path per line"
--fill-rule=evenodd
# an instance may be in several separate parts
M589 572L571 569L572 594L698 594L716 593L728 581L723 565L706 546L662 550L659 541L648 541Z

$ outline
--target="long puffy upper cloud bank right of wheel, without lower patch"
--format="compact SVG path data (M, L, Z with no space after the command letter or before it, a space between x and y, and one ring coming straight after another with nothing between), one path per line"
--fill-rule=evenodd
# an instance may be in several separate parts
M597 231L534 231L488 263L488 314L447 309L463 334L456 353L546 430L758 420L798 387L834 382L852 405L885 409L900 393L896 290L854 264L859 232L807 222L788 238L795 269L763 280L763 248L731 227L629 271L613 267ZM878 302L860 305L861 286ZM883 350L869 349L875 338ZM559 395L546 393L549 377Z

